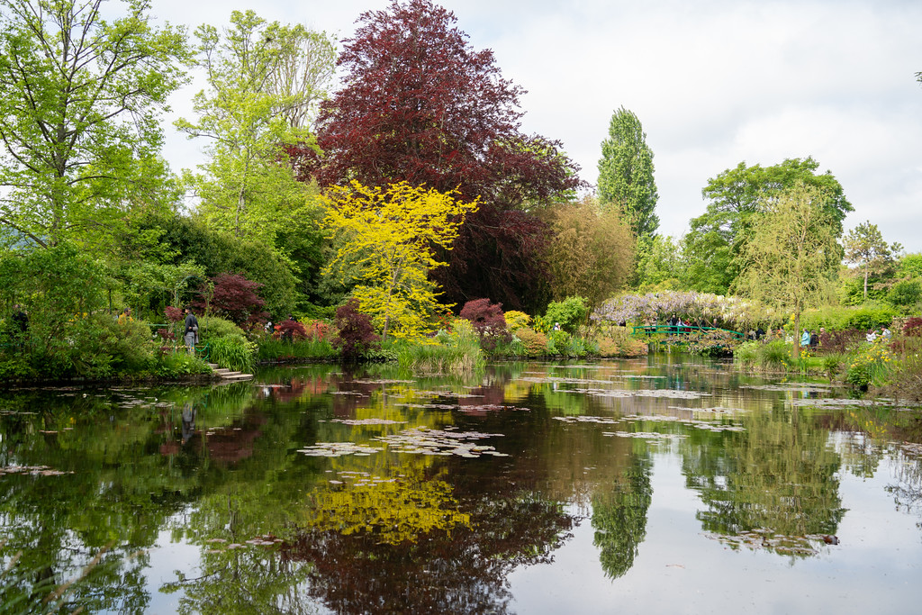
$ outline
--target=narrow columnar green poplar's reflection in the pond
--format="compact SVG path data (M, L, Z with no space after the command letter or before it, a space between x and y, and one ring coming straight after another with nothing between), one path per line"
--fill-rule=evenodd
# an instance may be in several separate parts
M602 570L612 579L631 570L637 546L646 536L646 512L653 495L651 467L648 455L633 457L623 479L608 493L597 492L592 498L593 544L600 549Z

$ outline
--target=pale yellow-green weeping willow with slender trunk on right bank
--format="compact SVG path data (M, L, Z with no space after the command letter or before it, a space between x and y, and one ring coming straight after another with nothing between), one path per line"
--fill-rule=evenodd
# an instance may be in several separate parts
M835 220L820 189L800 185L773 199L752 222L739 260L736 289L794 313L794 353L799 356L800 314L830 296L839 266Z

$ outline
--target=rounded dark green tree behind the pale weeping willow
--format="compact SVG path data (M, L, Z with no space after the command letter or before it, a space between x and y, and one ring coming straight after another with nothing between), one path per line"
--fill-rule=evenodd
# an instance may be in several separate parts
M771 167L747 167L740 162L708 180L702 190L710 200L707 211L691 219L683 242L687 279L692 290L726 294L739 275L739 260L752 231L752 217L774 207L787 190L803 184L822 191L820 204L827 211L836 237L851 203L842 184L830 171L817 174L820 164L808 157L789 159Z

